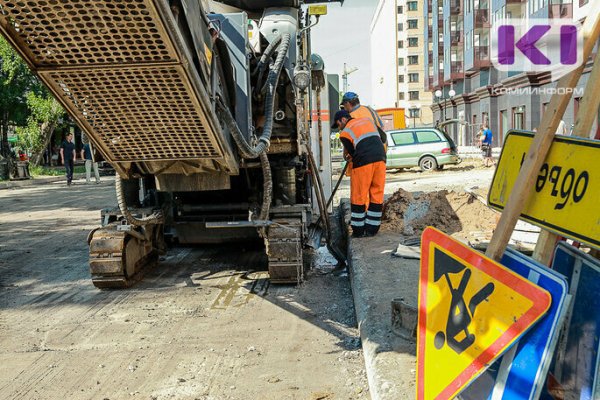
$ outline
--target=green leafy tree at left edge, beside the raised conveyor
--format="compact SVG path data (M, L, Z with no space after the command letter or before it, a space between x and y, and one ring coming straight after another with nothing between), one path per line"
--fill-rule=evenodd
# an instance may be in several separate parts
M64 109L0 37L0 155L8 156L8 128L17 127L19 146L39 164Z

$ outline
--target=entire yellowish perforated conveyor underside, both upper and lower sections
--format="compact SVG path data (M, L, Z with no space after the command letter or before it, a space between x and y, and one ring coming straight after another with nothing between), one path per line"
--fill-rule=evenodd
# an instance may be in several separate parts
M165 0L0 0L2 33L109 160L230 160L173 21Z

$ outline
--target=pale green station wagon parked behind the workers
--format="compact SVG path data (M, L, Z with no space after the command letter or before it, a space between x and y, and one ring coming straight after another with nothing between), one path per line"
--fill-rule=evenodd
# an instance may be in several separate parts
M393 130L387 137L388 169L420 167L431 171L462 161L452 138L436 128Z

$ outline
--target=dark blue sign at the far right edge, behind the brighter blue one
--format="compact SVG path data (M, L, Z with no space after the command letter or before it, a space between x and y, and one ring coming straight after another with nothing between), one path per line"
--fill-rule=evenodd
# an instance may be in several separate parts
M600 399L600 262L559 243L552 267L567 277L573 300L542 399Z

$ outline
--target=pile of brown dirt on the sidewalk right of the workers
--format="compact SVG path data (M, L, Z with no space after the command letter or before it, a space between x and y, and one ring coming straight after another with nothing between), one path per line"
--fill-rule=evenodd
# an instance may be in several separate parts
M497 215L469 193L410 193L399 189L384 204L382 229L420 236L426 227L433 226L467 238L472 232L492 232Z

